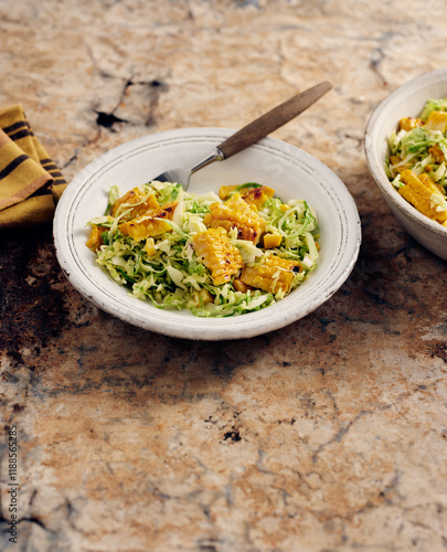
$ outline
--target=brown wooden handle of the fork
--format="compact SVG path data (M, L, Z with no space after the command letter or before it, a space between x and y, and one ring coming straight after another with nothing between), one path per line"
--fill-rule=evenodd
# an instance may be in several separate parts
M297 115L305 112L331 88L332 85L328 81L323 81L292 96L290 99L274 107L253 123L249 123L244 128L230 136L230 138L226 138L217 148L222 151L225 159L234 156L297 117Z

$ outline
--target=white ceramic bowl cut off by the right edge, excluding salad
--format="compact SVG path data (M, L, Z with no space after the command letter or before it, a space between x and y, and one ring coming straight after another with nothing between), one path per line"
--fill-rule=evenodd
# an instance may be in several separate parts
M447 227L419 213L391 185L384 162L387 137L402 117L417 117L427 99L447 97L447 68L426 73L387 96L372 114L365 130L366 161L386 203L402 226L427 250L447 259Z

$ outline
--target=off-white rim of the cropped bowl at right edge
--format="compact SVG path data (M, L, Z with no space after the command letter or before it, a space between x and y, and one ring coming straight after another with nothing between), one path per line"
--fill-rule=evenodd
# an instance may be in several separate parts
M434 84L446 82L447 88L447 67L430 71L428 73L423 73L422 75L406 82L402 86L394 89L384 99L382 99L375 109L373 110L366 127L364 135L364 151L366 157L366 163L370 169L372 177L374 178L376 184L379 185L385 199L389 199L396 208L398 208L407 219L411 219L414 223L423 226L425 230L435 232L439 236L447 238L447 226L443 226L436 221L433 221L428 216L421 213L416 208L408 203L395 188L391 184L386 177L383 166L377 160L375 146L377 144L377 132L380 129L381 119L384 112L396 102L398 98L407 99L417 92L422 92L425 88L432 87ZM427 97L428 99L428 97ZM408 114L412 115L412 114ZM397 121L396 121L397 125Z

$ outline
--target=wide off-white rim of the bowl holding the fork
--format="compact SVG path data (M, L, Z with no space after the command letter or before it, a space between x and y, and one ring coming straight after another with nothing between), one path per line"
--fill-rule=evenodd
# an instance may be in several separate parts
M299 166L300 163L302 163L306 164L309 169L315 168L321 179L320 187L323 185L322 182L327 182L328 180L332 181L332 183L334 184L333 189L331 189L328 184L328 191L326 191L326 193L329 198L337 199L336 203L339 205L339 208L343 209L343 213L341 214L343 214L344 217L340 217L339 213L339 220L344 221L341 225L342 241L340 245L340 251L342 251L343 253L342 257L344 257L344 262L342 265L340 265L340 259L338 259L337 266L332 266L330 273L324 276L324 285L322 285L323 282L320 282L320 285L317 286L313 291L311 289L308 290L309 293L307 293L307 296L309 296L309 300L304 301L301 306L294 305L294 307L291 307L289 305L287 308L281 309L284 310L283 318L279 319L279 317L276 316L275 323L272 323L270 321L267 323L258 319L258 315L260 314L262 315L259 318L267 318L264 316L264 314L268 309L265 309L264 311L246 314L244 316L237 317L237 323L234 322L234 317L216 319L231 320L231 326L235 327L234 330L233 328L227 328L225 326L223 330L222 328L216 328L212 332L205 331L205 335L202 335L200 333L201 328L198 329L198 327L194 325L190 325L191 327L187 327L187 320L184 320L184 322L180 322L179 320L166 322L164 319L161 320L161 327L156 327L152 321L149 321L149 318L146 318L142 321L137 320L137 311L143 306L142 301L141 304L139 304L139 307L135 309L136 312L134 312L134 310L131 309L130 312L125 312L126 318L124 318L121 316L123 312L119 312L119 309L116 308L116 301L110 306L109 304L106 304L104 301L104 297L97 297L92 293L92 288L83 274L84 270L82 269L82 267L79 270L79 265L75 266L76 263L73 263L73 253L71 253L72 256L67 256L67 250L71 250L71 247L75 245L73 242L73 235L70 236L70 232L73 232L73 229L71 231L70 220L73 220L73 212L76 212L77 198L83 194L88 185L97 185L95 184L96 174L100 173L103 169L107 171L108 167L114 167L117 160L117 156L119 158L130 159L135 152L138 152L138 155L141 155L141 152L146 153L148 148L157 148L157 150L159 151L161 147L160 145L163 142L163 140L169 144L181 145L183 144L183 141L188 142L188 140L190 140L191 144L196 144L198 139L199 141L203 141L204 139L206 139L206 142L213 144L212 141L210 141L210 139L219 139L222 141L222 138L226 138L231 132L234 132L234 130L224 128L195 127L148 134L142 137L125 141L124 144L106 151L94 161L88 163L74 177L71 183L72 188L68 187L68 189L66 190L66 192L68 193L64 192L61 201L57 203L53 224L53 236L57 261L63 272L72 283L72 285L82 295L84 295L84 297L96 305L100 310L106 311L116 318L120 318L121 320L125 320L134 326L139 326L140 328L170 337L210 341L249 338L280 329L309 315L311 311L322 305L327 299L329 299L343 285L354 267L361 245L360 215L351 193L349 192L345 184L341 181L341 179L328 166L319 161L317 158L297 148L296 146L284 142L276 138L268 137L252 146L252 148L256 148L269 153L276 151L280 157L284 157L285 159L295 159L294 164ZM219 141L216 141L216 144L217 142ZM323 188L326 188L326 184L323 185ZM338 268L339 266L340 268ZM309 278L308 282L311 283L311 278ZM317 291L318 296L316 295ZM135 301L139 301L139 299L134 299ZM279 305L279 302L277 305ZM275 305L272 308L275 308ZM296 316L298 312L295 311L298 311L299 316ZM166 314L167 311L161 312ZM243 319L247 321L248 319L251 319L255 323L253 323L252 327L248 328L248 325L246 323L241 325L240 319L241 321ZM209 319L203 320L206 321ZM237 326L238 328L236 328ZM242 335L240 332L241 329L243 330ZM225 335L220 335L220 331L224 331Z

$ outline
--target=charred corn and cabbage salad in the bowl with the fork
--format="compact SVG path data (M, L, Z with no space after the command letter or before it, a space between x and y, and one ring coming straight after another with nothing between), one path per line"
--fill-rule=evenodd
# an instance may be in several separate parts
M117 284L164 309L201 317L259 310L316 268L318 222L306 201L284 203L266 185L223 185L219 195L152 181L110 188L87 246Z

